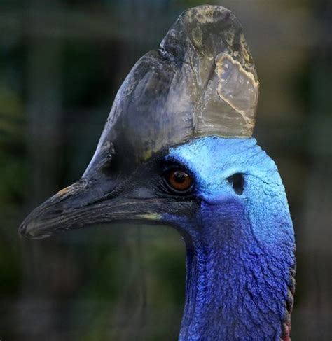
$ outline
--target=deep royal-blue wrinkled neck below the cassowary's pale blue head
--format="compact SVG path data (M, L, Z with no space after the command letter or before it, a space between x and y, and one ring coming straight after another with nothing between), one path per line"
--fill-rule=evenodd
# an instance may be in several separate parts
M240 207L225 209L227 221L222 211L212 215L206 206L200 227L185 237L186 304L179 340L280 340L290 278L284 258L291 258L278 247L265 249L249 218L238 218Z

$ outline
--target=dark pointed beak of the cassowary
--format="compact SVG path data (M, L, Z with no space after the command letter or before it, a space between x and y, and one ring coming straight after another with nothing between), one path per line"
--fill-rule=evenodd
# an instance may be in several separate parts
M82 178L34 209L19 231L25 237L41 239L64 230L149 215L144 212L143 200L119 195L116 188L114 181Z

